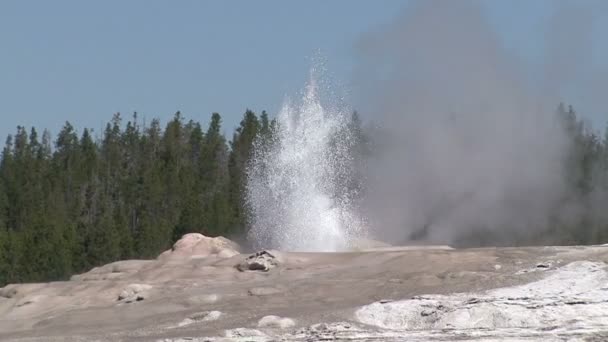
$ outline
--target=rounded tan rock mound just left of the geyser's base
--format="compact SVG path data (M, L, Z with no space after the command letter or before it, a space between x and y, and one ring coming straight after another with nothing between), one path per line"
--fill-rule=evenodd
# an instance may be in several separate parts
M230 258L239 254L239 245L224 237L207 237L199 233L190 233L179 239L173 247L158 256L159 260L184 260L206 258Z

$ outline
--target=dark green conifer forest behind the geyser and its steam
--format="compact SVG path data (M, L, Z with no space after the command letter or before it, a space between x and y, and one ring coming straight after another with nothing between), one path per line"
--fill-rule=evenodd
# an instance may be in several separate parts
M564 203L576 214L558 219L564 207L557 207L551 224L509 244L608 242L608 129L601 137L571 107L557 114L572 142ZM18 127L0 159L0 286L154 258L187 232L243 233L245 166L255 137L271 142L276 123L247 110L230 141L221 124L217 113L203 127L178 112L164 128L116 114L97 139L66 123L54 141ZM349 129L367 146L354 151L369 154L373 133L356 113ZM496 244L504 237L496 234L475 231L463 241Z

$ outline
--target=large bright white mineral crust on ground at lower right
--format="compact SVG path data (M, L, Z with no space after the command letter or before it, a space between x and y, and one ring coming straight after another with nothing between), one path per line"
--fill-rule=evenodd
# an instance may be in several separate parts
M608 325L606 264L577 261L546 278L483 293L424 295L357 310L369 325L395 330L555 329Z

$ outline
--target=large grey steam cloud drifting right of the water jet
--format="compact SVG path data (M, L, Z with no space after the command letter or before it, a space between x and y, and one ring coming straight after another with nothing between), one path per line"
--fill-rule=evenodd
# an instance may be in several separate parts
M558 47L591 45L590 18L575 14L572 32L551 29L558 17L547 23L553 59L536 76L472 1L413 2L361 40L357 99L376 127L363 210L375 238L450 243L486 230L508 239L551 224L569 191L558 78L584 78L584 53Z

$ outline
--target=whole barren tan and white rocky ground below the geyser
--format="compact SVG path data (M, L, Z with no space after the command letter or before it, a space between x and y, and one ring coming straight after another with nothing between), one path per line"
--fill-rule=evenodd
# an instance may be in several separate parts
M608 247L361 246L241 254L188 234L156 260L0 289L0 340L608 340Z

